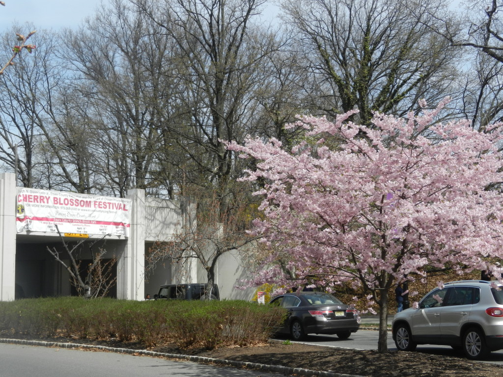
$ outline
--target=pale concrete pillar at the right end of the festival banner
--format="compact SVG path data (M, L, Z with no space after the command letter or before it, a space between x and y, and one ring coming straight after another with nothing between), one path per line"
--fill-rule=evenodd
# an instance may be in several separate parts
M145 291L145 191L128 190L131 227L117 263L117 298L143 300Z

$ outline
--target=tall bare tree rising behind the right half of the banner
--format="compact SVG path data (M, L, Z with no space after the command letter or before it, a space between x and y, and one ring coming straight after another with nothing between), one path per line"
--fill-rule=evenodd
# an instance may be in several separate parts
M97 167L104 187L125 196L127 189L151 187L158 130L173 108L169 39L128 3L114 0L78 31L67 31L65 53L90 118L102 141ZM162 113L160 113L162 109Z

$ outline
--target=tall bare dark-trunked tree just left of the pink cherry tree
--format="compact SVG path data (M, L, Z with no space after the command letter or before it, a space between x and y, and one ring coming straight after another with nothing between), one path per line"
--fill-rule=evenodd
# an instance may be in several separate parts
M278 48L275 34L253 23L260 20L265 0L133 3L180 51L177 70L170 73L185 90L180 100L186 115L183 123L162 126L188 159L173 163L181 164L186 180L212 186L225 212L235 171L233 154L222 140L240 139L246 133L257 106L254 93L264 81L263 61Z

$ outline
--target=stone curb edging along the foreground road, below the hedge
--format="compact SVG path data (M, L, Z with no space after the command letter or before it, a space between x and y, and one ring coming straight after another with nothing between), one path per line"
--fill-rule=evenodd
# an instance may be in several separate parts
M230 365L230 366L246 368L246 369L278 372L278 373L282 373L284 375L296 374L296 375L302 375L302 376L306 376L306 377L311 377L311 376L316 376L316 377L317 376L319 376L319 377L364 377L364 376L356 375L356 374L343 374L343 373L335 373L335 372L329 372L329 371L310 370L310 369L303 369L303 368L291 368L288 366L281 366L281 365L259 364L256 362L224 360L224 359L215 359L212 357L180 355L180 354L176 354L176 353L154 352L154 351L147 351L144 349L114 348L114 347L91 345L91 344L58 343L58 342L46 342L46 341L41 341L41 340L1 339L1 338L0 338L0 343L14 343L14 344L45 346L45 347L59 347L59 348L102 349L104 351L109 351L109 352L138 354L138 355L146 355L146 356L153 356L153 357L165 357L165 358L169 358L169 359L179 359L179 360L182 359L182 360L201 362L201 363L206 363L206 364Z

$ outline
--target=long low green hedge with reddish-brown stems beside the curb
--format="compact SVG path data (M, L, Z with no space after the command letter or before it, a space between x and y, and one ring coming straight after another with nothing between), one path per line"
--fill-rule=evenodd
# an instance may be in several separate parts
M0 302L0 334L212 349L267 341L283 316L283 309L244 301L24 299Z

